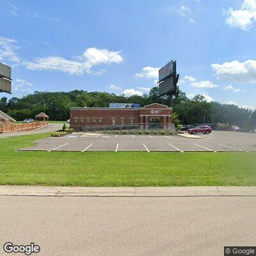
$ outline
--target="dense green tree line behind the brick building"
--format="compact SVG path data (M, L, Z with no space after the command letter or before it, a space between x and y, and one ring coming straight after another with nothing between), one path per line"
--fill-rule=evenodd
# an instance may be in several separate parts
M159 97L158 87L142 96L116 95L107 92L86 92L73 90L71 92L34 92L22 98L6 97L0 99L0 110L15 120L34 118L40 112L50 116L51 120L67 120L71 107L108 107L109 103L138 103L145 106L154 102L168 105L168 97ZM179 92L173 99L173 111L176 124L228 124L238 125L244 129L256 129L256 111L239 108L235 105L207 102L202 95L188 99L186 93Z

